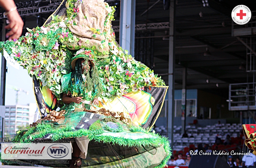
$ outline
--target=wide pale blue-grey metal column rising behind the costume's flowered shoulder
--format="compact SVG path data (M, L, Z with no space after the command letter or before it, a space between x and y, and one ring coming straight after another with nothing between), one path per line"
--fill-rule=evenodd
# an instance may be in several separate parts
M119 45L134 56L135 0L120 1Z

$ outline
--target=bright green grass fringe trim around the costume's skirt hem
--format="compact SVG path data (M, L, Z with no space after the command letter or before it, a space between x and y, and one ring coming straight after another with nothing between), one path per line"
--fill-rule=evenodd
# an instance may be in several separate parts
M50 133L52 134L51 140L57 141L61 138L71 138L71 137L82 137L87 136L90 140L95 141L102 141L103 143L114 143L118 145L124 145L124 146L153 146L158 147L159 145L164 145L164 150L167 154L167 157L161 162L160 165L156 166L155 168L162 168L165 167L167 161L169 160L171 156L171 149L170 149L170 143L169 140L166 137L162 137L159 134L155 134L153 132L149 132L149 130L145 130L142 127L137 126L128 126L129 130L132 132L142 132L146 133L148 135L155 136L157 138L143 138L143 139L125 139L123 137L113 137L113 136L107 136L107 135L101 135L101 134L95 134L98 132L94 132L91 130L74 130L72 127L63 127L63 128L54 128L53 124L38 124L36 129L29 128L28 131L21 136L21 138L24 138L25 141L21 140L21 143L29 143L29 139L35 139L35 138L42 138L46 134ZM33 134L34 132L38 132L37 134ZM99 131L100 132L100 131ZM27 139L29 137L29 139Z

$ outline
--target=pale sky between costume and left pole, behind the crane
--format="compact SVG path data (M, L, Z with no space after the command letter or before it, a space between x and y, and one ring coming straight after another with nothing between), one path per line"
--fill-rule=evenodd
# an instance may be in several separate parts
M1 62L1 59L0 59ZM1 65L1 64L0 64ZM27 105L29 103L35 103L35 97L33 93L33 83L32 78L28 75L27 70L23 67L19 67L19 70L6 64L8 67L6 73L6 90L5 90L5 105L15 105L16 101L16 91L9 87L15 87L17 89L22 89L28 91L28 95L24 92L20 92L18 96L19 105ZM1 67L1 66L0 66Z

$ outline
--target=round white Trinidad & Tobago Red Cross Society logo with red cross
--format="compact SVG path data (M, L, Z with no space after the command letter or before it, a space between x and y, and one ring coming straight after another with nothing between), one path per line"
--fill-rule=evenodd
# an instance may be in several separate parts
M251 10L245 5L237 5L232 10L231 17L236 24L246 24L251 19Z

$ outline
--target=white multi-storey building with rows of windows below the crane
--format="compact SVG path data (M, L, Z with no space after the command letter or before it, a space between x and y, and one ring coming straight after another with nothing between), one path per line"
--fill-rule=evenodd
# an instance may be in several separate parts
M35 103L30 103L27 106L5 106L5 135L15 135L22 127L27 127L35 122L36 110Z

